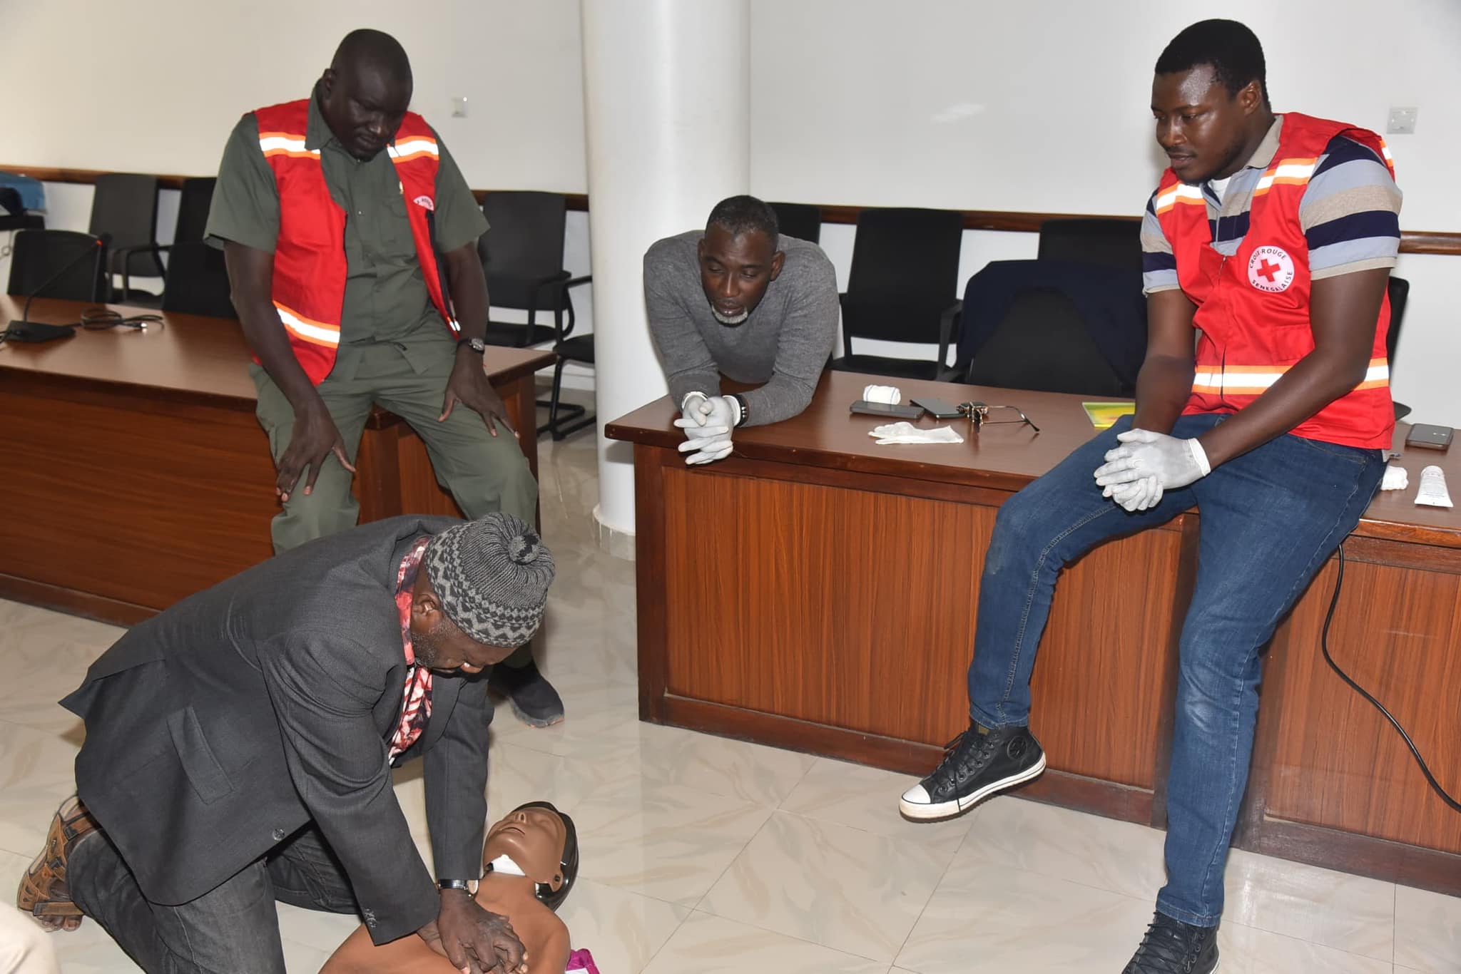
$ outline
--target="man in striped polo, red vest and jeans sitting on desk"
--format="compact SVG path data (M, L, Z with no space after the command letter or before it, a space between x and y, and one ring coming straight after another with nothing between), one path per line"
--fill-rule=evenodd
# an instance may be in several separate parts
M1135 416L999 508L970 726L900 809L957 815L1045 770L1029 682L1056 575L1097 543L1195 505L1167 883L1125 974L1210 974L1259 650L1359 521L1391 445L1385 288L1400 190L1375 133L1273 112L1262 47L1233 20L1195 23L1167 45L1151 111L1170 168L1143 225L1150 333Z

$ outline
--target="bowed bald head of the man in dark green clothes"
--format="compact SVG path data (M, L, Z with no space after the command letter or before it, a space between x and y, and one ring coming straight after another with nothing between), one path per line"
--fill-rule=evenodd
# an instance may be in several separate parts
M389 34L368 29L345 35L316 85L324 123L362 162L396 137L411 89L406 50Z

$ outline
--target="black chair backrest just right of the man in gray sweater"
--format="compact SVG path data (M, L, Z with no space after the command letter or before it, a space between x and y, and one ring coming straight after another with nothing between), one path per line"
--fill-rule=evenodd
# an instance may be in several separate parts
M964 215L957 210L866 209L852 241L849 295L919 295L953 304Z

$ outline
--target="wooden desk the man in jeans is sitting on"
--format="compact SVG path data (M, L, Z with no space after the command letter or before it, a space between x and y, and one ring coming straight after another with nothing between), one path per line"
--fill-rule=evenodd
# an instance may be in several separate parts
M1021 407L1023 423L945 421L963 444L885 445L852 416L869 381ZM795 419L736 431L687 467L660 399L609 423L634 442L640 716L926 774L967 726L983 552L999 504L1093 435L1080 396L828 372ZM1007 410L1005 410L1007 412ZM1012 416L1012 413L1008 413ZM919 425L934 425L926 416ZM1385 702L1461 793L1461 508L1414 505L1461 451L1410 450L1410 488L1376 496L1346 542L1335 660ZM1024 794L1164 825L1178 637L1199 514L1102 545L1067 568L1033 678L1049 771ZM1327 669L1335 565L1267 653L1236 844L1461 894L1461 815L1388 723ZM888 794L891 805L897 799Z

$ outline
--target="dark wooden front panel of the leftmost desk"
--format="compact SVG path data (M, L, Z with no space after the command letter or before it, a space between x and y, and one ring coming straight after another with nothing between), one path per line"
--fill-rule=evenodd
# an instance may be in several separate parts
M10 374L4 593L130 624L269 558L278 501L251 410Z

